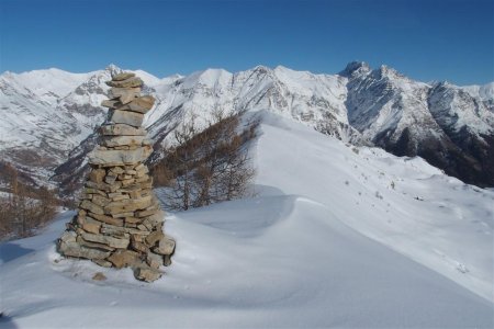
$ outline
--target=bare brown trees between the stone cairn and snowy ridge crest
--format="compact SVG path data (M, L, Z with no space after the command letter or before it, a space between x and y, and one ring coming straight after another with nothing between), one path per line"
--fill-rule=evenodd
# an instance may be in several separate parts
M246 195L255 171L245 145L256 136L257 125L239 132L238 115L217 112L201 133L193 118L177 129L178 146L167 149L153 169L155 185L167 186L166 206L187 211Z

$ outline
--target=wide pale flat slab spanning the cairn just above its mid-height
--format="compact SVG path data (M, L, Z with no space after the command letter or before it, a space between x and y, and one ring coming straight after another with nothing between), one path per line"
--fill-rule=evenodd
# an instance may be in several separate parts
M142 146L130 150L94 149L88 157L89 163L109 167L144 162L151 152L153 148L150 146Z

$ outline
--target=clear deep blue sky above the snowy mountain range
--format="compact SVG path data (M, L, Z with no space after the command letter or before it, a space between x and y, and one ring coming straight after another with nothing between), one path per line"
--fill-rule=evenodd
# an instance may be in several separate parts
M0 71L110 63L158 77L256 65L494 80L494 0L0 0Z

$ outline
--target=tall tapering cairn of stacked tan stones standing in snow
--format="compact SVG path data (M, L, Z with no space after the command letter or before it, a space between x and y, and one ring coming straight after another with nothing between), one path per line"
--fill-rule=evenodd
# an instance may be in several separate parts
M159 268L171 263L175 251L144 164L153 148L141 125L155 99L139 95L143 81L134 73L119 73L106 84L110 100L101 105L110 109L109 116L100 145L89 154L91 172L58 251L105 268L130 266L136 279L150 282L161 276Z

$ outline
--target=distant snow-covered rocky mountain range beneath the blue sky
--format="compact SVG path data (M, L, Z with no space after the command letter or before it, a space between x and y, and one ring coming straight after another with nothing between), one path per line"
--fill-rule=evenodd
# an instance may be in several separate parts
M80 168L96 140L93 129L105 116L99 106L108 90L104 80L117 70L1 75L2 158L43 180L69 157L57 170L64 181L60 175ZM165 79L136 72L145 92L157 99L145 123L157 149L173 143L169 133L191 117L204 126L215 111L268 110L355 145L418 155L468 183L494 186L494 83L428 84L364 63L350 63L338 75L263 66Z

